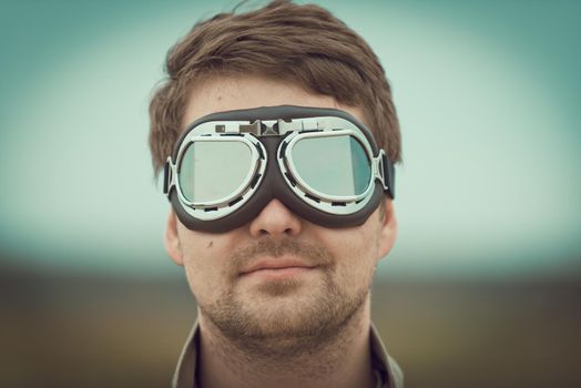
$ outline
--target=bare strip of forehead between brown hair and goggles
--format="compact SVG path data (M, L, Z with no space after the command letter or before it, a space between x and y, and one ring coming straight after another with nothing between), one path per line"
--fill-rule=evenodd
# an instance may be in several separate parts
M290 81L258 76L214 76L196 84L191 91L182 129L210 113L276 105L340 109L367 124L360 109L339 104L328 95L313 94Z

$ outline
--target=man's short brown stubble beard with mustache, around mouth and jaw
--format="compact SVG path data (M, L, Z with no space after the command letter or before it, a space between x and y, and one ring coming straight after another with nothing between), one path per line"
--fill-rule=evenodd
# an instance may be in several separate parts
M320 272L320 282L316 289L305 289L300 279L266 282L254 289L261 299L256 303L234 286L215 302L200 305L222 336L252 357L281 363L339 345L336 343L344 330L363 310L369 285L347 290L337 284L336 261L327 249L292 239L265 238L233 255L232 263L237 265L258 254L308 258L318 266L315 270Z

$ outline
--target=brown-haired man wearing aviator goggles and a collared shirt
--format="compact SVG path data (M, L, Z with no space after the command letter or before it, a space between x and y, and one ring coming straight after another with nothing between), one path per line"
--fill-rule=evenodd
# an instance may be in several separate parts
M174 387L402 387L370 321L396 238L399 126L365 41L316 6L197 23L169 52L150 146L197 323Z

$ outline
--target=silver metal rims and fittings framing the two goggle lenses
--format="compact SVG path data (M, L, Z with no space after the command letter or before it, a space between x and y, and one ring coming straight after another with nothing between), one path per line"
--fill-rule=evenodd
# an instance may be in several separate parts
M276 155L268 155L259 137L284 137L277 147ZM365 191L357 195L329 195L315 190L297 172L293 161L293 149L304 139L353 136L363 146L370 163L370 176ZM251 169L241 185L224 197L196 203L186 198L177 178L184 153L195 142L242 142L251 150ZM348 120L337 116L316 116L284 120L248 121L210 121L193 127L182 140L176 162L167 157L164 171L164 194L170 197L175 187L183 208L201 221L213 221L232 214L242 207L258 190L264 178L268 157L275 157L281 174L288 187L306 204L323 212L336 215L353 214L365 207L371 200L375 181L378 180L384 191L389 191L384 166L385 152L379 150L374 156L369 140L361 130ZM235 162L235 161L234 161Z

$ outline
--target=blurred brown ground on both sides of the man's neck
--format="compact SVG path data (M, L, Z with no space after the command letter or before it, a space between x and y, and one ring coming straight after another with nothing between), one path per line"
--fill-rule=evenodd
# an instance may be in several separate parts
M0 270L1 387L167 387L185 279ZM581 387L581 282L387 282L373 312L406 387Z

